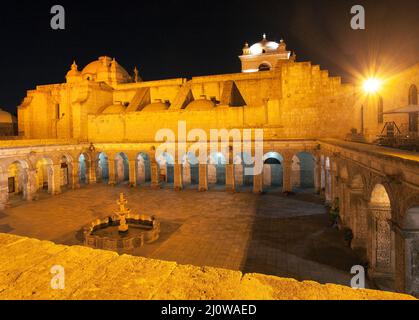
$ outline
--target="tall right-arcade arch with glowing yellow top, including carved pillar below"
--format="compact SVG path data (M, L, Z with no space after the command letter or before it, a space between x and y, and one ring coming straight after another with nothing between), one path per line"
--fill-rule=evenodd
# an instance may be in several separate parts
M391 278L394 275L394 232L391 230L391 203L386 188L376 184L369 204L368 258L371 275L378 278Z

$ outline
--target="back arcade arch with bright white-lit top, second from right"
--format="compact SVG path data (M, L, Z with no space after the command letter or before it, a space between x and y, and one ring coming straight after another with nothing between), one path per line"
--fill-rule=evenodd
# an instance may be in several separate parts
M283 161L278 152L268 152L263 156L263 185L269 188L282 188Z

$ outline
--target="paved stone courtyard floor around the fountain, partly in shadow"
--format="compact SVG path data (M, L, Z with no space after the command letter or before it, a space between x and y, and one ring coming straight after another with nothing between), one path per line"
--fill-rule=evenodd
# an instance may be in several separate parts
M0 232L82 244L82 227L110 215L120 192L133 212L161 221L160 239L136 255L343 285L360 263L342 233L330 228L321 200L309 194L95 185L42 194L33 202L12 201L0 212Z

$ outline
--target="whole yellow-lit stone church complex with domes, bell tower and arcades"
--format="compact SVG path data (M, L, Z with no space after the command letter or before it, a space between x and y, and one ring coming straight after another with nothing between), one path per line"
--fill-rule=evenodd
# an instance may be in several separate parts
M74 62L64 83L27 92L18 106L20 138L0 141L0 207L14 194L26 201L43 189L57 194L99 182L255 193L311 187L326 203L338 202L370 277L419 295L419 156L374 143L388 123L417 136L419 64L367 95L297 61L284 40L264 35L246 43L239 59L238 73L157 81L142 81L107 56L84 68ZM156 159L156 132L177 133L180 121L208 136L263 129L263 172L245 175L244 153L228 154L234 162L210 153L215 161L207 164L191 164L190 155Z

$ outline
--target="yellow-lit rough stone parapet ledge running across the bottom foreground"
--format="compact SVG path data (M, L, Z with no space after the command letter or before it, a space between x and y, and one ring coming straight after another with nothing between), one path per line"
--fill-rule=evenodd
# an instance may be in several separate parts
M51 288L53 266L65 288ZM0 299L405 300L411 296L119 256L0 234Z

